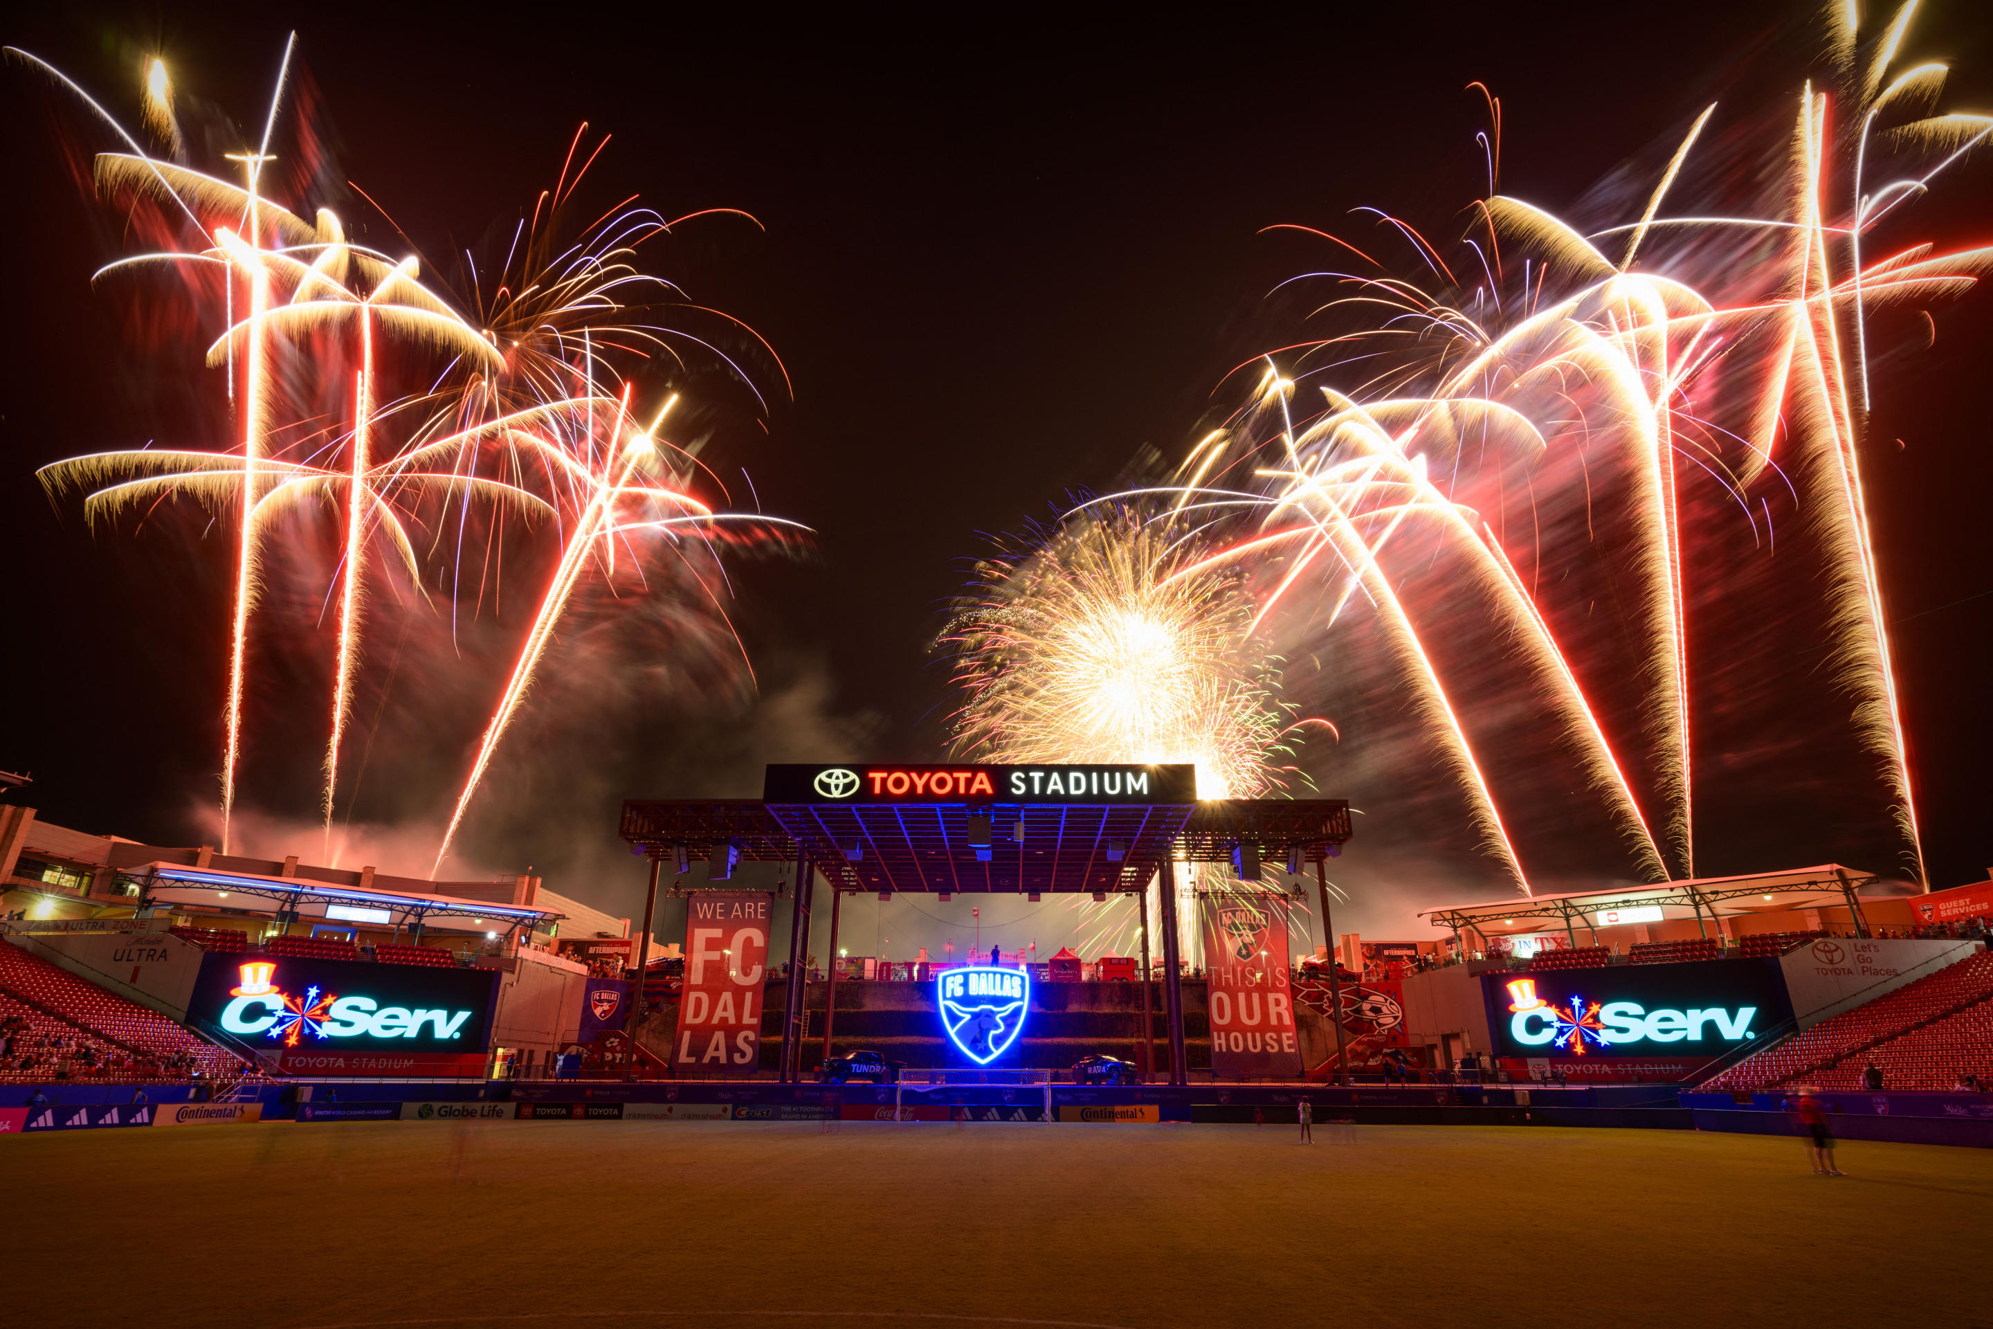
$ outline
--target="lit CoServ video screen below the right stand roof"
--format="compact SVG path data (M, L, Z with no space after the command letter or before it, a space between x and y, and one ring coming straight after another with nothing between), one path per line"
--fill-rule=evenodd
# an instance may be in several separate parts
M1792 1018L1778 960L1481 974L1503 1058L1718 1058Z

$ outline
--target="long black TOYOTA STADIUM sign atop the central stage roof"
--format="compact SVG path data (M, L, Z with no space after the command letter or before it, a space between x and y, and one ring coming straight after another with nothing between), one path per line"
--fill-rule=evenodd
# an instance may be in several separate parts
M1196 803L1194 765L771 765L763 803Z

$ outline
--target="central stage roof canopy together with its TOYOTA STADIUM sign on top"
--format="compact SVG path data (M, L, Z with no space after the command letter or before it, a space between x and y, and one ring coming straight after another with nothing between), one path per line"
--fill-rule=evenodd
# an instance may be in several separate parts
M622 837L654 859L807 855L839 891L1116 893L1240 845L1276 869L1335 857L1349 803L1200 801L1188 765L771 765L757 801L628 801Z

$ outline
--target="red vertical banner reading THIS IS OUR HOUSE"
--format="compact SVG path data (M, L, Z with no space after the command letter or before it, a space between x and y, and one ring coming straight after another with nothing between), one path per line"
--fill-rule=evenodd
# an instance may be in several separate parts
M1204 903L1204 956L1212 1078L1299 1078L1285 917L1250 899L1210 899Z

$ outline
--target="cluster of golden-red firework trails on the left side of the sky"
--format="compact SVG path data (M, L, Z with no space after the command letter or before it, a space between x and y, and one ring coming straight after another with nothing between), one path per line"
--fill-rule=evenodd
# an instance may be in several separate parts
M713 584L721 576L715 562L719 544L765 544L803 528L761 514L713 510L688 488L696 468L692 452L676 450L684 464L672 466L662 460L672 444L652 444L648 434L626 436L622 408L634 385L616 367L618 359L684 365L676 347L692 345L725 361L753 391L751 375L710 341L634 317L646 305L632 301L632 293L652 293L650 305L698 311L747 337L753 331L719 311L686 303L676 287L636 267L636 247L674 225L650 209L632 209L626 199L576 237L560 239L564 205L574 199L588 163L608 139L596 143L594 153L574 169L574 147L586 126L576 133L560 181L540 195L530 231L522 219L490 295L478 283L476 269L468 273L478 313L472 323L448 299L423 285L415 257L393 259L357 245L331 211L319 209L315 221L305 221L271 197L269 167L277 161L271 145L295 48L293 34L285 44L261 139L253 147L223 153L239 167L239 185L185 165L171 78L161 60L145 64L142 110L155 141L175 159L147 153L136 135L60 70L8 48L76 94L120 137L124 151L98 153L96 183L106 195L130 205L134 231L149 231L161 241L155 251L110 263L96 281L126 271L163 269L185 283L197 317L209 315L219 285L223 331L209 349L209 365L225 371L227 400L235 412L235 448L147 446L100 452L46 466L42 480L58 492L86 490L86 514L92 520L126 510L149 512L171 496L233 510L235 574L221 755L223 851L229 849L237 799L259 594L269 560L281 560L289 552L267 542L275 516L311 500L339 510L343 526L339 570L329 596L335 642L319 809L327 849L339 799L343 741L353 721L355 685L365 667L363 636L369 584L377 576L375 546L393 550L407 576L407 590L427 604L425 560L460 570L466 556L476 556L476 550L466 548L466 538L488 540L482 552L486 570L494 560L490 546L496 544L496 534L470 528L472 502L480 512L502 516L518 510L552 518L562 532L560 562L526 632L500 705L486 723L470 777L454 799L438 853L440 867L490 765L492 749L516 715L562 612L590 568L608 582L622 552L626 566L636 572L636 586L616 594L646 592L650 582L644 580L642 560L656 550L670 550L723 624L721 592ZM656 293L670 299L658 301ZM757 337L755 341L759 343ZM765 343L759 345L765 349ZM383 399L385 353L393 353L405 373L432 379L432 387ZM773 351L767 355L773 361ZM442 373L423 371L425 357L440 357ZM779 367L779 361L773 363ZM600 387L602 383L610 383L610 389ZM329 400L343 404L327 410ZM604 406L614 406L618 414L604 416ZM644 440L648 458L638 454L638 438ZM612 460L604 462L604 456ZM419 526L432 528L427 550L419 544ZM478 586L482 596L482 574ZM458 598L452 594L452 624L456 610Z

